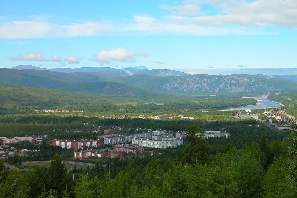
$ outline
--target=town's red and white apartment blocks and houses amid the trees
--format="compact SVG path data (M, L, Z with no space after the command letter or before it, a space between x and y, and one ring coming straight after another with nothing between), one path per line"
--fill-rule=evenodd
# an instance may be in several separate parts
M74 149L74 158L119 158L123 159L124 155L141 155L148 148L147 152L154 154L154 149L165 149L181 146L184 144L184 137L187 136L187 131L166 131L166 130L146 130L136 129L132 134L115 134L116 130L108 129L103 131L103 135L98 136L98 139L88 140L51 140L51 145L55 147L62 147L66 149ZM209 137L225 137L228 138L230 133L221 131L205 131L204 133L197 133L197 136L202 138ZM0 137L3 144L18 144L20 142L32 142L40 144L43 139L40 136L24 136L24 137ZM113 149L111 149L113 147ZM1 147L0 147L1 148ZM101 148L101 150L98 148ZM102 152L102 148L106 150ZM150 150L151 149L151 150ZM15 150L11 147L4 151L0 149L1 155L26 154L31 152L28 149Z

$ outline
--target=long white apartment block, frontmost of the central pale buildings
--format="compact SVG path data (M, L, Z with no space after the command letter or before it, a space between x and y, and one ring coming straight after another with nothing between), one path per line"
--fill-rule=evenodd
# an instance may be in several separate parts
M168 137L168 140L167 140L166 138L163 137L161 141L148 140L148 139L132 139L132 144L137 144L143 147L161 148L161 149L167 148L167 147L173 148L184 144L183 139ZM175 139L179 139L181 141L177 141Z

